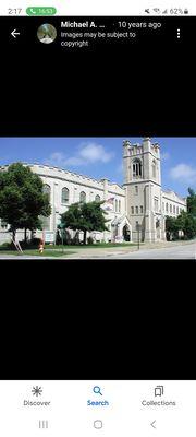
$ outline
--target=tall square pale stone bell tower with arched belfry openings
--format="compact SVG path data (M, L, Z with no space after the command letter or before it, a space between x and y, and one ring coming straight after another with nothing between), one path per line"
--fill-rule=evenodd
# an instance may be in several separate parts
M124 188L133 240L164 239L161 200L160 147L145 138L142 144L123 142Z

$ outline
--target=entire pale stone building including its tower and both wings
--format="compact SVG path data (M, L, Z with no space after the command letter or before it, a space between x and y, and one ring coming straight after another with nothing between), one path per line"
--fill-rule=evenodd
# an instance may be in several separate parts
M138 229L142 240L166 238L164 216L177 216L186 210L186 199L162 190L159 145L152 144L149 138L142 144L124 141L123 164L124 184L121 187L107 178L96 180L58 167L24 163L41 177L50 198L52 213L42 220L48 243L56 238L60 214L72 203L94 200L105 201L102 208L109 220L108 232L90 234L95 241L134 241L138 238ZM7 169L8 166L0 167L0 170ZM0 221L0 244L10 240L8 229L9 226ZM23 239L23 234L22 229L19 231L17 238ZM37 231L36 236L41 235L42 232Z

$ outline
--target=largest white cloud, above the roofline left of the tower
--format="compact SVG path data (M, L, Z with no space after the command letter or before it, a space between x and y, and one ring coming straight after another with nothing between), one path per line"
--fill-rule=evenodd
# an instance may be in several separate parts
M84 142L77 147L77 152L73 156L68 156L62 152L54 152L49 156L46 163L60 167L96 163L106 164L111 161L113 156L113 152L107 152L101 144Z

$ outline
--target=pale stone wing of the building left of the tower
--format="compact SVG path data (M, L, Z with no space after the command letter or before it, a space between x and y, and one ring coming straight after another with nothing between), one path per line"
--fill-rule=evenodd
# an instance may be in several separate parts
M39 164L26 164L32 172L39 175L45 185L45 191L48 192L52 213L50 217L42 220L45 236L48 241L53 241L57 233L57 226L60 223L60 214L68 211L72 203L79 201L90 202L94 200L105 201L106 218L109 220L107 226L109 232L94 232L90 236L95 241L120 241L122 240L123 227L127 226L131 239L131 225L125 212L125 191L118 184L111 184L108 179L96 180L87 176L71 173L62 168ZM5 170L8 166L1 166ZM9 226L8 226L9 227ZM8 228L0 224L0 241L10 239L5 232ZM37 231L36 236L41 237L42 232ZM74 233L71 232L71 236ZM89 234L88 234L89 236ZM23 238L23 231L17 232L19 239ZM81 239L83 235L81 233Z

